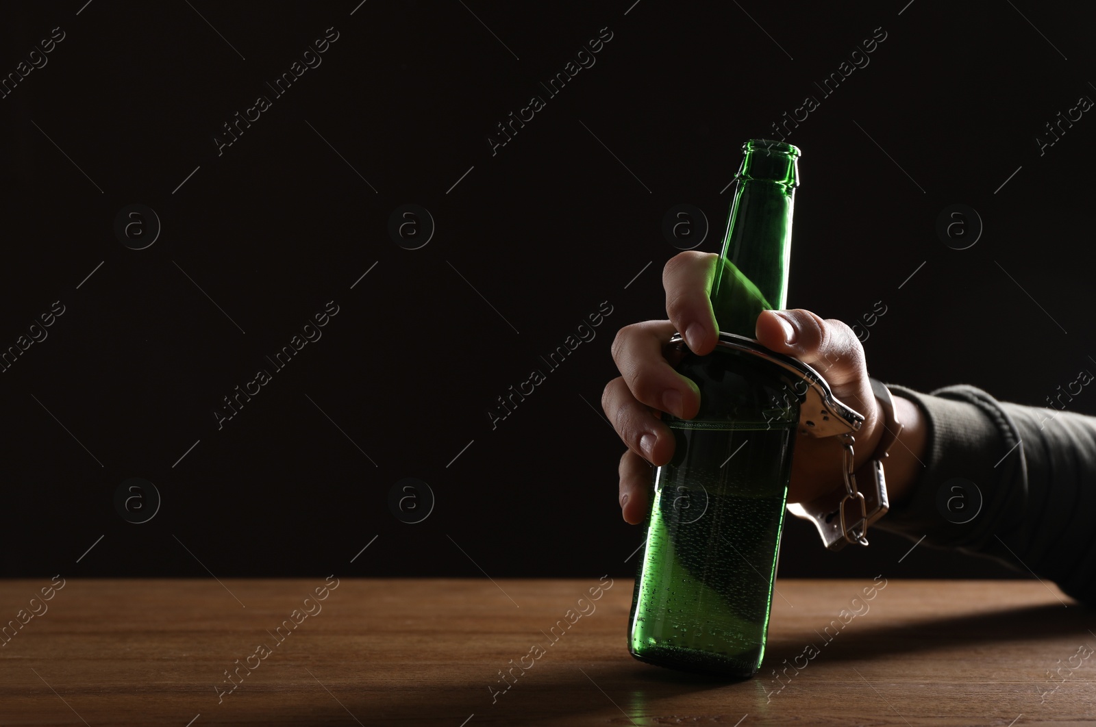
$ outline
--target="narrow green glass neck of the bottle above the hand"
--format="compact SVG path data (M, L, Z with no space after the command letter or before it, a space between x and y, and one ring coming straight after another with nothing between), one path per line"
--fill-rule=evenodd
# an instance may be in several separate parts
M798 151L798 150L797 150ZM791 216L795 205L795 158L785 159L786 175L751 178L756 170L746 158L739 173L730 221L711 286L711 307L719 330L756 337L757 316L763 310L785 308L788 265L791 256ZM773 157L785 157L773 154ZM766 169L779 160L764 159Z

